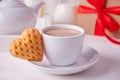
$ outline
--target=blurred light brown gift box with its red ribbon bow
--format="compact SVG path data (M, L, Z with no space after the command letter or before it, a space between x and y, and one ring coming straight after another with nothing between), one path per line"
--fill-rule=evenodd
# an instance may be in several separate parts
M102 8L99 9L101 5ZM109 18L104 20L104 14L111 21ZM88 34L106 33L112 38L120 39L120 0L80 0L77 25L82 26Z

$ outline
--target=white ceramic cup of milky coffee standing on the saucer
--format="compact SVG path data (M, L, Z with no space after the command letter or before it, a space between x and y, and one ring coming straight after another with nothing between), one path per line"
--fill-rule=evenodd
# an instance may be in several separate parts
M53 36L46 33L46 31L51 29L70 29L78 31L79 33L71 36ZM72 65L80 57L85 34L83 28L75 25L58 24L44 27L41 33L46 57L52 65Z

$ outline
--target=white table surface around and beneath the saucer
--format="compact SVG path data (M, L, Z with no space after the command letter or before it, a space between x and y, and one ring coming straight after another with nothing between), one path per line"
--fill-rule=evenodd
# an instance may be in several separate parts
M120 80L120 45L110 43L105 37L85 36L84 45L96 49L101 58L88 70L67 76L44 73L11 56L7 48L12 38L0 36L0 80Z

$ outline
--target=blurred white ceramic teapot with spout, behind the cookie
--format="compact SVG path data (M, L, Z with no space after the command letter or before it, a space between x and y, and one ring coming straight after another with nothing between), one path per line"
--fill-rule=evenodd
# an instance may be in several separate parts
M34 27L42 4L37 2L28 7L22 0L0 1L0 35L20 34L25 28Z

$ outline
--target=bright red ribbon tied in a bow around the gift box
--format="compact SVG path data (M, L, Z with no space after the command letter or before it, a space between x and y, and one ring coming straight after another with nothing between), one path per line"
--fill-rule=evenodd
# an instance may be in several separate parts
M120 6L117 7L110 7L105 8L106 0L87 0L94 8L87 7L85 5L79 5L78 7L78 13L84 14L84 13L95 13L97 12L97 20L95 25L95 35L105 35L111 42L115 44L119 44L119 41L116 41L112 39L110 36L108 36L105 33L105 28L107 28L110 32L117 31L120 26L119 24L110 17L107 13L112 13L116 15L120 15Z

